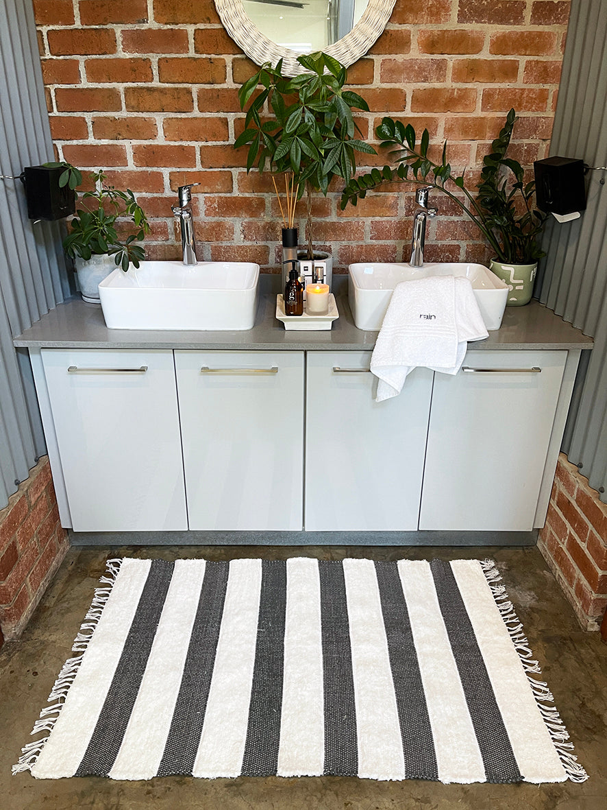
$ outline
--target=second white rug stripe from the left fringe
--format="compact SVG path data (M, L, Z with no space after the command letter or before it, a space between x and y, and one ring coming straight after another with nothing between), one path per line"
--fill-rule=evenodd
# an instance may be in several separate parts
M158 771L205 575L206 566L201 562L175 563L146 672L120 751L108 774L112 779L150 779Z

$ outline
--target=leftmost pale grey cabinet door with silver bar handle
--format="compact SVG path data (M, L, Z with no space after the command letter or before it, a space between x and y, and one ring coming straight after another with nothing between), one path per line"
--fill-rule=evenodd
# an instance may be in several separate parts
M172 352L40 354L74 531L187 529Z

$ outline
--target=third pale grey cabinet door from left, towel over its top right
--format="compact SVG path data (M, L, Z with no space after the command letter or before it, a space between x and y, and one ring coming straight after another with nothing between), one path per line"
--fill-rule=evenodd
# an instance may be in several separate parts
M308 352L308 531L418 528L432 373L415 369L401 394L374 400L371 352Z

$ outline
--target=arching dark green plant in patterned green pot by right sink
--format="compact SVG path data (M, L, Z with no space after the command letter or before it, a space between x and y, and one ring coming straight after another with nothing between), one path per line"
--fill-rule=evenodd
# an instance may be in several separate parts
M478 194L474 195L466 189L463 174L452 174L446 141L440 163L436 163L428 157L428 130L423 131L418 143L413 126L384 117L377 127L377 136L382 147L393 149L390 156L397 160L398 166L374 168L371 173L352 179L343 191L342 209L348 203L356 205L368 190L387 182L433 186L461 208L493 249L495 258L490 269L510 287L508 304L527 304L533 292L537 260L545 255L538 237L547 215L533 207L535 183L525 183L524 169L506 156L515 122L516 113L511 109L499 136L491 143L490 154L483 158ZM464 199L458 192L463 192Z

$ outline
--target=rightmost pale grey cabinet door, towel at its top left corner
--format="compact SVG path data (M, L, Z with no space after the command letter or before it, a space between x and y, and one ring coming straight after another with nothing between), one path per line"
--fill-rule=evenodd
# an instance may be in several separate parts
M567 352L468 352L436 374L420 529L531 531Z

